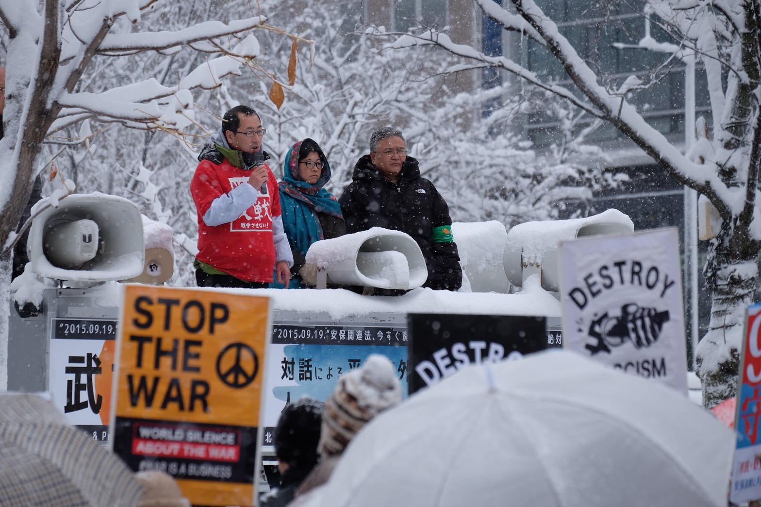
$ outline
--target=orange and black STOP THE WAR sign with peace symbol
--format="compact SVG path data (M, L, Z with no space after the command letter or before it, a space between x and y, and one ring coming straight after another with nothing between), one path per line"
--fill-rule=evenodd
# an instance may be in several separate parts
M111 426L194 505L253 505L269 298L127 285Z

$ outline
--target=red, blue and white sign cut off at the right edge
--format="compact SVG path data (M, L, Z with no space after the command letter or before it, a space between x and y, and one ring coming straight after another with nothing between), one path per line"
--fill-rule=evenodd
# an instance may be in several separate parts
M745 311L734 427L737 445L729 498L743 503L761 498L761 303Z

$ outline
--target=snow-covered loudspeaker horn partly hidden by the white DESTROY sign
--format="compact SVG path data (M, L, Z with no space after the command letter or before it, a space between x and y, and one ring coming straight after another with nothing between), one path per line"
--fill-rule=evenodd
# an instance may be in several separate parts
M505 244L505 274L517 287L522 287L529 276L538 274L543 289L557 292L560 241L629 232L634 232L634 223L617 209L608 209L587 218L515 225L508 231Z

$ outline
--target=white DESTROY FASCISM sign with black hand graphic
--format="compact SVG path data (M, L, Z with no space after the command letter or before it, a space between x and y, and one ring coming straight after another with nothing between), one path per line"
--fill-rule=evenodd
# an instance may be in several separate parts
M687 393L677 228L562 241L563 346Z

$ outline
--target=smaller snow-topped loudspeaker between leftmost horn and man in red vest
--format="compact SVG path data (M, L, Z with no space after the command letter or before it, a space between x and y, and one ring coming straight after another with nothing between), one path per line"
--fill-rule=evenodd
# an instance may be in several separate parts
M145 264L135 278L123 282L161 285L174 275L173 231L170 225L156 222L142 215L145 239Z

